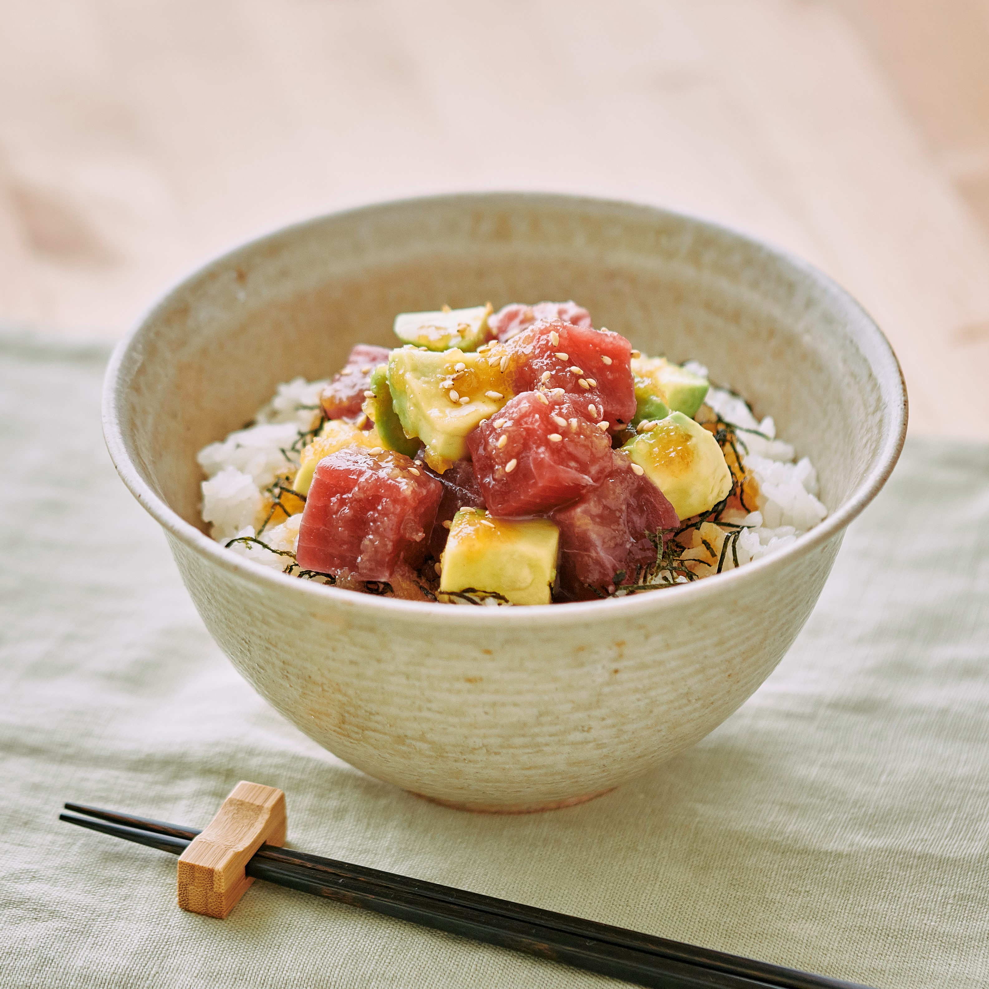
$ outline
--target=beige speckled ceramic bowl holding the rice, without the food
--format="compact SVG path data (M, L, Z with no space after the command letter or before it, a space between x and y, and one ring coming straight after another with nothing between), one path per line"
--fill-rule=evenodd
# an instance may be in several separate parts
M576 299L634 346L697 358L808 454L830 510L791 548L674 590L453 607L284 577L199 518L196 452L279 382L329 375L441 303ZM325 217L169 293L117 349L105 429L203 620L254 688L379 779L476 810L587 799L703 738L776 666L906 427L893 353L845 292L717 226L624 203L462 195Z

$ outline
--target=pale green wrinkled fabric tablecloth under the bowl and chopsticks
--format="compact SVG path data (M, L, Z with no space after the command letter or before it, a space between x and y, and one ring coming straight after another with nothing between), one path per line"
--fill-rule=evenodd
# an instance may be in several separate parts
M110 465L99 346L0 336L0 985L610 980L256 884L63 800L202 826L283 788L297 847L881 987L989 983L989 446L913 440L797 644L674 761L569 810L446 810L340 763L227 664ZM614 984L614 983L610 983Z

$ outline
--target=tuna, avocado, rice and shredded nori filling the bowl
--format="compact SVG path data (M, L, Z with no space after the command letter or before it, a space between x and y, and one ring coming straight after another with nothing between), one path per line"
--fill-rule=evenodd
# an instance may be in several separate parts
M395 332L200 451L230 552L364 593L549 604L703 580L827 514L770 416L576 303L404 313Z

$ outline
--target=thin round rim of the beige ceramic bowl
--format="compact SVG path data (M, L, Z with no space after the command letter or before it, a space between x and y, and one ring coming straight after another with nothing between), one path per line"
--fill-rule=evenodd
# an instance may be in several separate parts
M155 494L151 487L144 481L128 452L127 442L124 437L124 416L120 411L120 405L122 403L119 403L118 399L121 398L124 392L125 382L130 380L128 372L136 364L135 349L139 350L139 347L135 348L135 343L139 342L139 338L145 327L151 325L155 317L167 309L175 296L204 277L215 274L218 269L235 263L237 258L244 254L253 252L265 245L273 246L276 241L310 227L321 225L326 221L349 218L355 215L367 216L390 210L407 209L408 207L425 207L430 204L450 205L451 203L456 204L459 201L477 206L483 205L486 201L497 201L504 204L512 200L530 206L543 203L565 206L572 209L581 206L592 209L631 209L640 213L652 213L658 219L673 220L674 222L685 225L693 225L715 235L727 235L729 239L735 240L740 245L748 248L756 248L776 262L781 262L784 266L788 266L798 276L802 276L815 283L819 289L823 290L826 295L832 296L840 305L857 313L860 318L857 320L857 325L854 328L854 335L864 334L865 339L863 342L869 344L867 350L866 348L862 348L862 356L872 374L878 380L880 388L882 389L885 386L886 389L889 389L893 393L893 401L883 406L883 412L888 422L885 439L876 452L871 469L852 494L822 522L797 537L792 545L769 554L761 560L748 563L744 567L733 568L727 573L712 575L715 578L714 580L705 579L690 584L680 584L674 588L670 588L671 592L666 593L642 593L603 600L565 601L529 605L526 607L494 608L456 607L440 602L410 601L401 598L363 594L326 584L315 584L311 581L300 581L298 578L289 577L269 567L253 563L236 553L228 552L223 544L215 542L196 528L196 526L182 518L163 498ZM132 329L114 348L104 377L102 398L104 438L110 458L124 484L127 485L144 509L165 529L166 533L170 533L191 550L206 557L211 564L220 566L231 575L247 580L250 583L259 584L261 587L268 587L274 593L278 592L276 590L278 587L291 587L294 588L294 591L290 592L308 595L309 601L312 604L321 602L323 606L332 605L334 608L343 608L354 613L355 616L366 612L367 616L371 617L377 612L382 617L391 615L398 618L400 615L405 614L405 616L414 618L420 624L442 624L449 626L451 624L470 623L472 627L477 626L479 622L484 625L503 625L506 621L513 625L517 625L519 622L545 625L565 620L574 620L575 618L580 618L584 621L610 621L612 617L625 617L627 619L641 616L645 612L652 613L674 607L677 602L686 602L687 600L696 602L711 595L727 593L730 592L732 587L743 581L758 581L761 575L776 569L785 568L791 562L814 552L829 540L842 533L854 518L861 513L866 505L879 493L892 473L893 468L896 466L906 437L907 418L908 398L903 371L885 334L876 324L875 320L855 301L850 293L807 261L797 257L788 250L768 244L757 237L743 233L730 226L716 224L689 214L667 210L663 207L636 203L629 200L535 191L448 193L369 203L322 214L299 223L281 226L261 236L240 243L236 247L214 257L206 264L195 266L189 273L166 289L144 310L135 321Z

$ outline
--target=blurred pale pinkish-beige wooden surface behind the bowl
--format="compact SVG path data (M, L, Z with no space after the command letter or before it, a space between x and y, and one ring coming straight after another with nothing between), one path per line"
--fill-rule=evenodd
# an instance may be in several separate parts
M0 0L0 320L112 339L315 213L595 193L820 265L914 430L983 436L987 51L989 0Z

